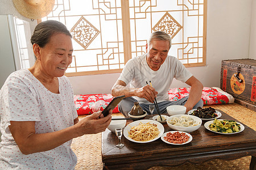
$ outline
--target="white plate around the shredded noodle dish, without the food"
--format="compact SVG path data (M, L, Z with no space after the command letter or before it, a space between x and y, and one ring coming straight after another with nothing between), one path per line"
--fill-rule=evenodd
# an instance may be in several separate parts
M131 139L130 137L128 137L128 132L130 131L132 126L137 126L139 124L147 124L147 122L150 122L150 124L156 124L156 127L158 128L158 130L160 131L160 133L158 134L158 136L150 141L135 141L134 139ZM158 121L154 121L154 120L138 120L138 121L134 121L131 122L129 125L127 125L125 127L125 129L123 130L123 135L125 136L126 139L128 139L131 142L136 142L136 143L148 143L148 142L153 142L156 139L160 138L162 136L162 134L164 133L164 127L162 124L160 124Z

